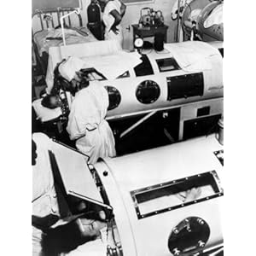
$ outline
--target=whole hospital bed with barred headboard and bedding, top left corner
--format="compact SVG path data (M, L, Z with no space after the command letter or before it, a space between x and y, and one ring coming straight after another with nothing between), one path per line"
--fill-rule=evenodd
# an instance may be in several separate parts
M32 44L37 61L46 74L49 48L63 44L61 33L61 16L72 14L75 9L37 9L32 14ZM83 26L80 14L68 15L63 20L66 44L95 42L97 39Z

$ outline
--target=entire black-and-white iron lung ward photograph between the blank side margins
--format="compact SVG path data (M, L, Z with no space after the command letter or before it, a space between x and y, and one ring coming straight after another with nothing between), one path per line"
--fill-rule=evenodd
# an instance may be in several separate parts
M224 255L223 13L32 0L32 256Z

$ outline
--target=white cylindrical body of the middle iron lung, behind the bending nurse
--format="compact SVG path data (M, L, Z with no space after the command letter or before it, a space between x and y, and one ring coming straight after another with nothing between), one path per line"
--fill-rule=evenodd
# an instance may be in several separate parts
M178 44L189 48L186 42ZM209 45L203 42L201 44L206 47ZM195 42L195 49L200 50L201 44ZM218 42L211 46L223 49L222 44ZM168 45L165 47L168 49ZM208 47L209 49L211 50ZM159 54L153 50L148 55L143 55L142 64L127 70L124 76L113 81L102 79L100 83L108 88L110 102L107 119L119 119L223 97L222 56L219 54L207 58L207 52L205 54L206 67L201 65L196 71L188 72L178 66L172 52L166 50Z

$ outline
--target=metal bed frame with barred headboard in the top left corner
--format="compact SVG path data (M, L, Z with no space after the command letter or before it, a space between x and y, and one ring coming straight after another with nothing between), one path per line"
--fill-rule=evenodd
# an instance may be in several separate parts
M34 47L36 61L38 67L42 70L42 75L46 75L47 65L48 65L48 54L44 53L43 56L40 56L38 53L37 44L34 41L34 35L37 32L47 30L49 28L55 28L61 26L61 16L67 15L76 10L76 8L57 8L57 9L36 9L32 14L32 44ZM64 26L69 27L83 27L83 20L80 14L67 16L63 20Z

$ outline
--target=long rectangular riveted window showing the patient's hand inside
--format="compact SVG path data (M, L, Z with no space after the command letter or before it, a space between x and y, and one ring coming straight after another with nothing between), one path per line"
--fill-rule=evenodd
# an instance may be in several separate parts
M196 193L195 193L196 190ZM192 194L195 194L192 196ZM223 195L215 171L131 191L137 218L147 218Z

